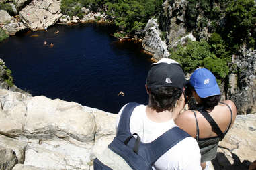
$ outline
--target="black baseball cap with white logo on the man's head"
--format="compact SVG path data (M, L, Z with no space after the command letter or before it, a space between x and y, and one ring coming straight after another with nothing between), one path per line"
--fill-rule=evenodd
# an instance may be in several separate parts
M168 86L185 90L185 83L185 74L181 65L170 58L162 58L152 64L146 78L146 86L151 91Z

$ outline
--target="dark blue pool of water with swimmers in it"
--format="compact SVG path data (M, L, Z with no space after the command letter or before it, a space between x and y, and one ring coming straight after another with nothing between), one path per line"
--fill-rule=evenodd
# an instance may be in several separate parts
M113 31L59 25L48 32L28 32L2 42L0 58L11 69L15 85L32 96L117 113L127 102L148 102L144 84L151 61L138 45L117 43ZM124 96L118 96L120 91Z

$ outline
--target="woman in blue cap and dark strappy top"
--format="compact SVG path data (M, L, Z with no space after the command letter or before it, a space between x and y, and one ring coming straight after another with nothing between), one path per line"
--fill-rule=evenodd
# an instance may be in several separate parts
M179 114L175 123L198 141L202 169L217 155L218 142L224 138L237 116L231 100L220 102L220 88L206 68L193 72L188 87L198 105Z

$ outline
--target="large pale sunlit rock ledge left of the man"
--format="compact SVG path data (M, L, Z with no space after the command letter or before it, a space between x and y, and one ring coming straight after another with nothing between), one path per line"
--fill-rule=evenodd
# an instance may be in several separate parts
M8 90L0 102L0 167L90 169L115 134L116 114L75 102Z

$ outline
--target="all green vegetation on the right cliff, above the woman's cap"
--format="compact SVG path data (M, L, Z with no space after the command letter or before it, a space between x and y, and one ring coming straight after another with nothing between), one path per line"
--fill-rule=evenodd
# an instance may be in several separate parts
M185 72L198 67L211 70L223 80L232 69L232 54L246 45L255 49L256 6L254 0L188 0L185 24L188 31L198 35L208 27L208 41L189 41L187 46L171 50L171 58L178 60ZM199 17L200 16L200 17ZM210 23L210 24L209 24ZM210 26L209 26L210 25Z

